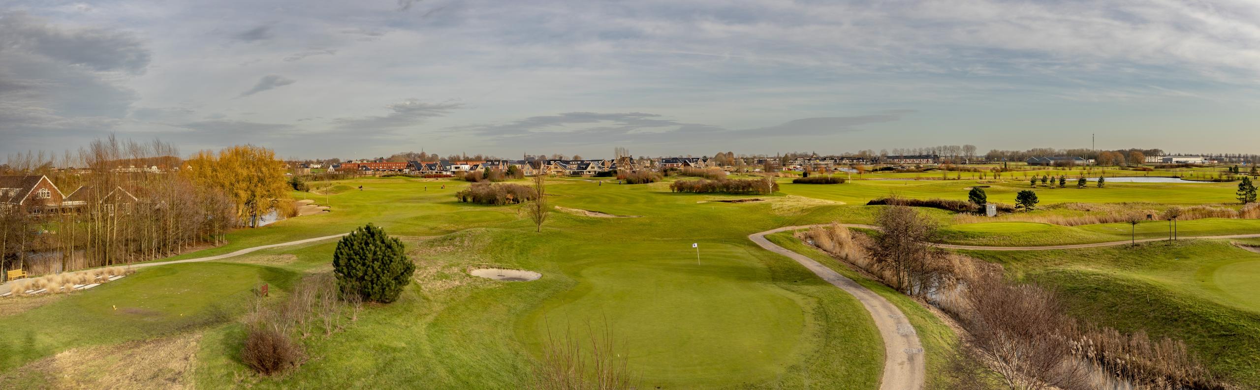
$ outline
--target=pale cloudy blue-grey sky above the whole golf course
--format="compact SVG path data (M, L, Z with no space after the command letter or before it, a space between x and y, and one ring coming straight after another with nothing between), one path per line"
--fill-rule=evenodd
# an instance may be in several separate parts
M1250 153L1257 87L1257 1L0 0L0 153Z

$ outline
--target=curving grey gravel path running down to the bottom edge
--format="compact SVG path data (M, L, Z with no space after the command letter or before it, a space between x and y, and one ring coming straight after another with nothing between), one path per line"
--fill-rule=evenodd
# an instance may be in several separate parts
M774 230L753 233L748 235L753 243L766 250L789 257L796 263L805 265L814 274L828 283L839 287L852 294L862 306L871 312L871 318L879 328L883 338L883 377L879 381L881 390L920 390L924 389L926 367L924 365L924 347L919 342L919 335L896 306L879 294L862 287L857 282L832 270L830 268L814 262L803 254L775 245L766 239L767 234L784 230L806 229L810 226L784 226Z

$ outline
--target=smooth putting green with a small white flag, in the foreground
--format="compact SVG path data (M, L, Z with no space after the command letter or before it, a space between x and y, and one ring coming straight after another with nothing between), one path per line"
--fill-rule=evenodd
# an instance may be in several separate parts
M644 384L730 387L764 381L801 359L805 313L794 293L742 247L702 243L702 260L687 244L627 248L578 245L564 258L577 287L544 302L524 330L534 340L606 321L625 340Z

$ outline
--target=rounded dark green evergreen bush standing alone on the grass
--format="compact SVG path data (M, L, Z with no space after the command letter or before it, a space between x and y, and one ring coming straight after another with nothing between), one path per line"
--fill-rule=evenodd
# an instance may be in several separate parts
M411 283L416 264L407 258L402 242L373 224L354 229L336 243L333 272L343 298L389 303Z

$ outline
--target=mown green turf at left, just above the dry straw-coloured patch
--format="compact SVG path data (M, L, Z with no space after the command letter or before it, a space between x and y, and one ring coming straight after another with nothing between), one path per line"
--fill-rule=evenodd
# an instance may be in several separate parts
M0 370L69 346L118 343L219 323L243 312L251 289L294 273L251 264L190 263L140 269L43 307L0 317Z

